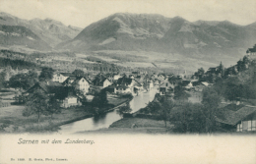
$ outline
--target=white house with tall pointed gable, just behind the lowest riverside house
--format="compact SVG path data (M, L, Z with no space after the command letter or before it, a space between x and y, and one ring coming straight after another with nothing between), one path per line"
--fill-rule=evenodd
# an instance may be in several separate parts
M89 92L90 82L85 77L69 77L65 82L62 82L64 86L73 86L77 90L81 90L84 94Z

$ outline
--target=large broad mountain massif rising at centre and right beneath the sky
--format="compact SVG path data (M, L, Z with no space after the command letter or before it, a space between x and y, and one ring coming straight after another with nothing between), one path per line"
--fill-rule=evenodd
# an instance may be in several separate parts
M163 53L231 55L256 42L256 23L188 22L180 17L118 13L84 28L57 48L85 50L146 50Z

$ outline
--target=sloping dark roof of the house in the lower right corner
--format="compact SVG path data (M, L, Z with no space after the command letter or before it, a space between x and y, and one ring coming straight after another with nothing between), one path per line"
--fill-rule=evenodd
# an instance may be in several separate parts
M216 118L216 121L234 126L254 112L256 107L253 106L244 106L236 111L224 108L224 118Z

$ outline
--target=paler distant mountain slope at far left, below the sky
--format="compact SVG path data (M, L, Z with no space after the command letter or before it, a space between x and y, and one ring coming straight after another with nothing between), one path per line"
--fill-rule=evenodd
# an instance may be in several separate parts
M37 35L48 46L46 47L33 46L26 39L24 44L26 44L27 46L30 46L33 49L44 49L44 50L50 50L52 47L59 44L60 42L73 39L82 30L82 28L80 27L71 27L71 26L66 27L61 22L58 22L52 19L45 19L45 20L32 19L28 21L28 20L23 20L3 12L0 13L0 25L10 27L13 29L26 28L26 30L31 30L32 33ZM3 30L1 31L3 35L4 34L3 32L5 31ZM12 32L17 33L16 31L12 31ZM2 35L0 35L0 37L2 37ZM9 35L8 33L5 32L5 39L7 39L9 36L14 37L14 35ZM22 37L18 37L18 35L16 36L17 36L17 39L20 39L20 40L24 39ZM8 42L11 43L12 42L11 40L14 40L14 39L10 39ZM45 44L45 43L42 43L42 44ZM14 44L22 45L23 43L14 42Z

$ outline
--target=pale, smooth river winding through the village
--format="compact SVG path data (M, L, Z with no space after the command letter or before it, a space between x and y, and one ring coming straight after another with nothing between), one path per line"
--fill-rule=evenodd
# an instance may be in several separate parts
M134 98L130 101L132 113L145 107L147 103L152 101L157 91L158 91L157 88L153 88L150 91L143 92L139 95L134 96ZM74 134L78 132L96 131L99 129L108 128L113 122L116 122L121 119L121 116L119 116L116 113L116 110L117 109L115 109L112 112L102 114L100 116L96 116L93 118L88 118L88 119L84 119L84 120L80 120L80 121L76 121L70 124L60 126L61 130L59 130L59 133L68 135L68 134Z

